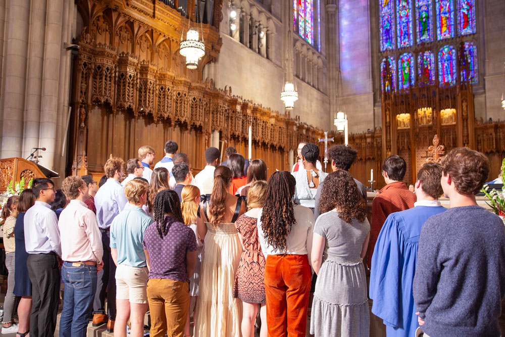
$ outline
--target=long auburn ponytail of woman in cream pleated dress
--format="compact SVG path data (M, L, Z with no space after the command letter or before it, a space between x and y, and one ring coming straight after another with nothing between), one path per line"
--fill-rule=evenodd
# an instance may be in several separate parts
M209 213L211 214L211 223L214 226L219 226L224 219L226 211L226 197L228 196L228 188L232 179L231 170L226 166L218 166L214 170L214 187L212 188L211 201L209 205Z

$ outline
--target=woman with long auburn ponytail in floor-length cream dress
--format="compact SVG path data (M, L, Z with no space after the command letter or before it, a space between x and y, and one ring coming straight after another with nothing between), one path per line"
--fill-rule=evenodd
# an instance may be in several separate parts
M200 202L196 219L205 255L200 268L195 337L240 336L242 303L233 298L233 283L242 254L235 220L245 211L242 199L229 194L231 170L218 166L210 198Z

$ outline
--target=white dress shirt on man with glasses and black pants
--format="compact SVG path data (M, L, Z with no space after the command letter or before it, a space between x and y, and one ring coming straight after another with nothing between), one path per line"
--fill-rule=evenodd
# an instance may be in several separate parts
M24 223L26 253L55 252L62 256L58 218L51 205L36 201L35 205L26 211Z

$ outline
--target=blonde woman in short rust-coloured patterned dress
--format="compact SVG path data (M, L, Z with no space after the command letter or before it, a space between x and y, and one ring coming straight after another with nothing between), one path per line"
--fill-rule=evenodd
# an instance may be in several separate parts
M254 337L254 322L261 305L260 337L267 336L267 307L265 305L265 257L258 239L258 213L267 196L267 182L252 183L247 192L248 211L235 222L244 251L235 274L233 297L243 303L242 337Z

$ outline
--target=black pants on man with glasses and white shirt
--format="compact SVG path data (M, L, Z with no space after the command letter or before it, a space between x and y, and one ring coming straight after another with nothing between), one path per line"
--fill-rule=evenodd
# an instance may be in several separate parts
M32 283L30 335L53 337L58 315L61 273L55 253L29 254L26 262Z

